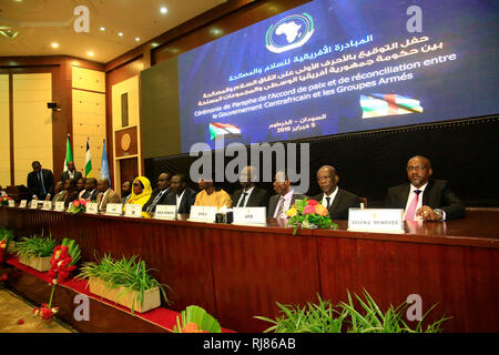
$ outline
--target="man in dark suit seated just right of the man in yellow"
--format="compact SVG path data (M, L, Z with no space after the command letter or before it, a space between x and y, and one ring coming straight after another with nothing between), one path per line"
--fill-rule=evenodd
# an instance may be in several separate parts
M240 174L240 184L243 189L236 190L232 197L235 207L266 207L268 203L267 191L255 187L258 178L256 168L245 166Z

